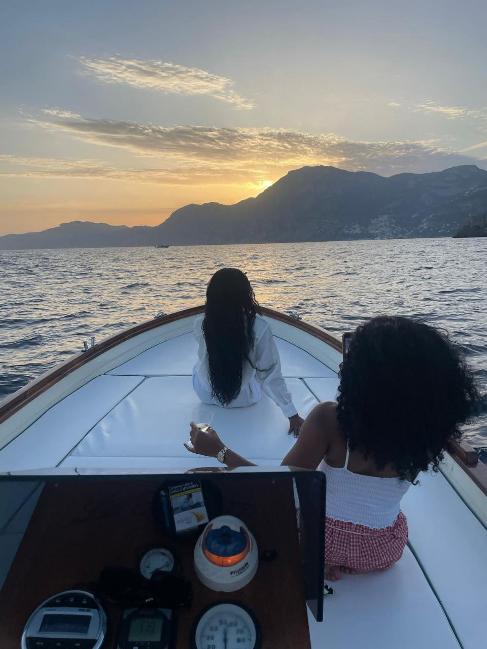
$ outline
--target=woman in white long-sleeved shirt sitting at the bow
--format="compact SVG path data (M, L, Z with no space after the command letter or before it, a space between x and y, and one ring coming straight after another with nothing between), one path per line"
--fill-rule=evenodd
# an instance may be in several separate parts
M303 419L293 406L272 332L245 273L222 268L212 276L205 315L195 320L194 334L198 360L193 387L203 402L241 408L258 402L265 391L288 417L289 432L299 434Z

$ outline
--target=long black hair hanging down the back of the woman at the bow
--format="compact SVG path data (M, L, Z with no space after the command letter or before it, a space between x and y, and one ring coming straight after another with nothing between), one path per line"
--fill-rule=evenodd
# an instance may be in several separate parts
M202 328L212 397L223 406L236 399L242 388L243 361L249 360L253 347L256 313L260 308L245 273L221 268L212 276Z

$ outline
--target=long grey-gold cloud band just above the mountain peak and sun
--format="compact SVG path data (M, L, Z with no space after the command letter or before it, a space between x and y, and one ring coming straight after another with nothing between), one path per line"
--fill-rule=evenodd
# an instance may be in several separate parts
M171 167L184 167L184 174L194 177L199 168L223 175L225 170L229 175L236 171L249 176L260 173L262 180L275 179L303 165L333 165L390 175L399 171L438 171L475 162L442 149L434 140L367 142L290 129L163 127L111 119L53 118L31 122L96 145L121 147L139 157L162 158Z

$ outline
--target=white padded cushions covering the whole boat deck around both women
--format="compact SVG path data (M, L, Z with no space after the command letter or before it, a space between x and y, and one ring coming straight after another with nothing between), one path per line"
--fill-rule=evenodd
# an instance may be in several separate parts
M288 341L276 342L299 414L334 400L336 373ZM0 471L218 465L183 447L199 404L192 390L195 356L192 334L183 334L93 378L0 450ZM268 397L249 408L214 408L212 426L260 465L281 463L294 443L287 419ZM0 554L6 557L14 556L36 492L27 496L13 515L0 508ZM410 527L403 558L384 572L344 576L334 585L336 594L325 598L325 621L309 617L314 648L484 646L487 530L442 474L421 476L403 510Z

